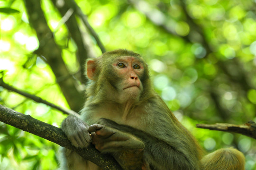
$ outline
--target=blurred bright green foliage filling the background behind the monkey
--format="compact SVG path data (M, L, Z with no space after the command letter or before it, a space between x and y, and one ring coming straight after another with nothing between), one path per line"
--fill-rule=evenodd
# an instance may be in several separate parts
M64 1L59 0L59 3ZM196 123L256 121L255 0L76 0L110 51L124 48L148 61L152 83L175 116L209 152L238 147L246 170L256 169L256 140L196 129ZM77 46L50 0L41 1L70 74L79 71ZM69 108L23 0L0 0L0 78ZM80 27L84 29L81 21ZM92 36L90 49L101 50ZM59 127L66 117L0 86L0 104ZM0 170L55 170L58 146L0 123Z

